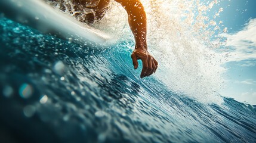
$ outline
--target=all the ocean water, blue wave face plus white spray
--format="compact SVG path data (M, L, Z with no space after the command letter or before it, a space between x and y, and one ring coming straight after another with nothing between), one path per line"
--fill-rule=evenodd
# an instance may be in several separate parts
M64 41L1 17L0 142L256 142L256 109L218 94L225 57L216 51L221 39L208 39L226 28L199 13L215 3L198 5L194 20L190 1L142 2L159 61L144 79L115 4L93 25L122 37L112 46ZM159 17L158 7L171 15Z

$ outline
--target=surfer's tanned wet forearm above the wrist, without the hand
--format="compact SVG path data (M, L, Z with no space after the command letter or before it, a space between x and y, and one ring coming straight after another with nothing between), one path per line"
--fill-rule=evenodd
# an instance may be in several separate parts
M135 39L135 48L147 49L147 18L144 7L138 0L116 0L125 8L128 14L129 26Z

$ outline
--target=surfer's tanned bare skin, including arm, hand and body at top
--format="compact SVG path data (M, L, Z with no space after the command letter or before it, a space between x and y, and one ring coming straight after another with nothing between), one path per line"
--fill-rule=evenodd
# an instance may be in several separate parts
M87 0L75 0L78 4L86 4ZM132 30L135 39L135 49L131 54L132 63L134 69L138 68L138 61L141 60L143 63L143 69L140 77L150 76L158 69L158 62L155 58L147 51L147 18L144 11L144 7L140 0L115 0L122 7L125 8L128 14L129 26ZM87 7L95 10L96 16L97 11L101 11L109 5L110 0L100 0L97 6ZM95 17L92 17L95 18ZM97 17L96 17L97 18Z

